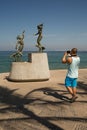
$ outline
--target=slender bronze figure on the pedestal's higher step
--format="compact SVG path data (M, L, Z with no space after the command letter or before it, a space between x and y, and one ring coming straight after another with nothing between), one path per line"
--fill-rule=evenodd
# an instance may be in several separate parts
M42 52L45 49L45 47L43 47L40 43L40 41L43 37L42 36L43 24L37 25L37 29L38 29L38 32L35 34L35 36L38 35L36 47L39 48L39 52Z

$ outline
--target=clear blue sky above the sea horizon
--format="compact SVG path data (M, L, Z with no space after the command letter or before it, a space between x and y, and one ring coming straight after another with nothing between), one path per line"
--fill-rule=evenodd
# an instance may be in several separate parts
M0 51L15 50L23 30L24 50L37 50L41 23L46 51L87 50L87 0L0 0Z

